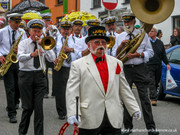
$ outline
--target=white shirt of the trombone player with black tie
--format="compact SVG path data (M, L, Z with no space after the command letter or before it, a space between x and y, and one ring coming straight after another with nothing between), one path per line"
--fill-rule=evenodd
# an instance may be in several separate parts
M38 69L34 67L34 58L30 56L31 53L34 52L34 47L35 44L33 43L33 40L31 38L25 39L19 43L17 57L19 60L20 71L41 70L41 66ZM49 51L43 50L41 46L39 46L39 48L41 48L42 51L44 51L44 53L42 53L42 57L45 57L49 62L54 61L55 54L52 50ZM45 64L45 59L43 60L43 62Z

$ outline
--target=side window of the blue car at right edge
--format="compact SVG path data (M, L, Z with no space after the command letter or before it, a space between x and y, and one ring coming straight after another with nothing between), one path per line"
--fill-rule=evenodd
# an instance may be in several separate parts
M180 65L180 48L176 48L167 54L170 63Z

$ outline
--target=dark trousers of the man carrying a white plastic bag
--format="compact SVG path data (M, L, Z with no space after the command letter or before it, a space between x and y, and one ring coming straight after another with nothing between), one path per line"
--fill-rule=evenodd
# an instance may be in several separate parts
M150 99L157 100L157 87L161 79L162 66L161 65L147 65L149 77L149 95Z

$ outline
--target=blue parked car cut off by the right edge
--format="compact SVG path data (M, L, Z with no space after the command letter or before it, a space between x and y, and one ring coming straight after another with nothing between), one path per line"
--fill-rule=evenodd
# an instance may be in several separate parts
M166 55L171 66L171 76L175 80L177 87L166 90L166 65L162 62L161 81L158 89L158 99L164 99L166 94L180 97L180 45L176 45L166 50Z

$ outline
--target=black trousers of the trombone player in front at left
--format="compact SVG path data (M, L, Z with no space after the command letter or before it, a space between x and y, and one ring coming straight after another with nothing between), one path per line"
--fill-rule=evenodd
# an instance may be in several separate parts
M19 72L19 88L23 108L19 133L27 133L30 118L34 111L34 134L44 134L43 97L47 86L46 83L46 78L42 71Z

